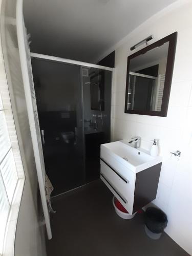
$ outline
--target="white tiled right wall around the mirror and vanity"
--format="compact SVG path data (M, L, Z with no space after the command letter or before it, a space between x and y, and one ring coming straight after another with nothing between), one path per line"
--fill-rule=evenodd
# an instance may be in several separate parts
M141 147L150 150L151 140L159 139L163 164L154 203L168 216L165 232L192 254L192 2L180 3L153 16L119 43L115 51L112 120L113 140L130 140L139 135ZM167 117L125 114L127 56L142 48L131 52L130 47L151 34L154 39L150 44L176 31L177 49ZM170 158L170 151L175 150L182 152L179 161Z

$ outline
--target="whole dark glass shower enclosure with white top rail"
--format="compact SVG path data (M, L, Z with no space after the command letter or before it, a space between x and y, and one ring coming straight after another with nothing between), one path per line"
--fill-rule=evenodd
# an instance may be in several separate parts
M46 173L58 195L100 177L100 144L110 142L112 69L32 56Z

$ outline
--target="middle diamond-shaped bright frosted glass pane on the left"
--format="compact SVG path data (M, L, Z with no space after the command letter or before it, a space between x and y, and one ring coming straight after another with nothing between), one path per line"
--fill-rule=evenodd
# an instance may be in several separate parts
M0 170L6 187L8 199L11 203L18 180L12 150L9 151L3 162L0 164Z

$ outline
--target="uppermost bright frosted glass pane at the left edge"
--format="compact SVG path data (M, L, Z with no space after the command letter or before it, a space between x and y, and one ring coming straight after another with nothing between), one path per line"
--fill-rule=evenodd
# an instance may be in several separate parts
M0 111L0 163L11 147L4 111Z

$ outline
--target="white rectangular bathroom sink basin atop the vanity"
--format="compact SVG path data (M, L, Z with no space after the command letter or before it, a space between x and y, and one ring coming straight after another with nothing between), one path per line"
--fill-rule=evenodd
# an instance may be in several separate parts
M129 145L129 142L125 140L102 144L101 156L103 154L109 154L116 158L116 160L134 173L141 172L141 170L150 168L162 162L161 156L152 157L142 148L132 147Z

